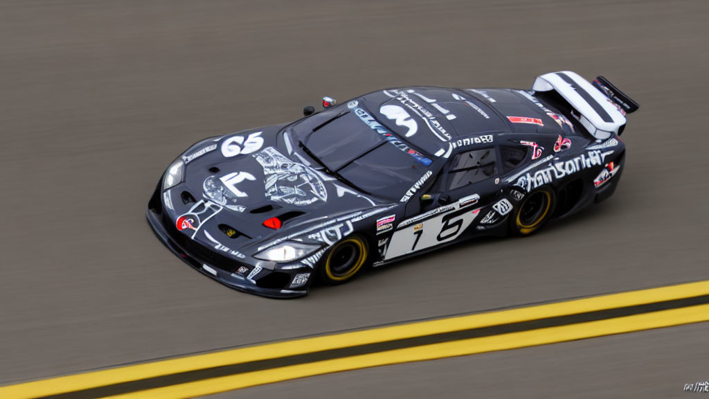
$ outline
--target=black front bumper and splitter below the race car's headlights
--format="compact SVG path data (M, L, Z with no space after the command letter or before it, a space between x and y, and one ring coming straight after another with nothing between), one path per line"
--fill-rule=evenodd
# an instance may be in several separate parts
M159 184L148 204L145 217L162 244L182 261L203 275L245 293L274 298L302 297L308 294L308 287L313 277L313 269L308 266L296 263L284 268L276 266L272 270L264 268L258 263L236 261L181 234L172 226L172 222L166 222L160 187ZM239 270L243 270L243 268L246 268L247 271L239 273ZM296 275L303 273L310 273L308 282L298 288L289 288Z

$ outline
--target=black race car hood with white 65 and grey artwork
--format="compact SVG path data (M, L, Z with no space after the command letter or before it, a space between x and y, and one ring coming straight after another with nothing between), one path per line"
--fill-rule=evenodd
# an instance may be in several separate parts
M281 127L210 138L186 151L184 183L169 194L177 229L250 255L264 242L382 205L296 155L279 140Z

